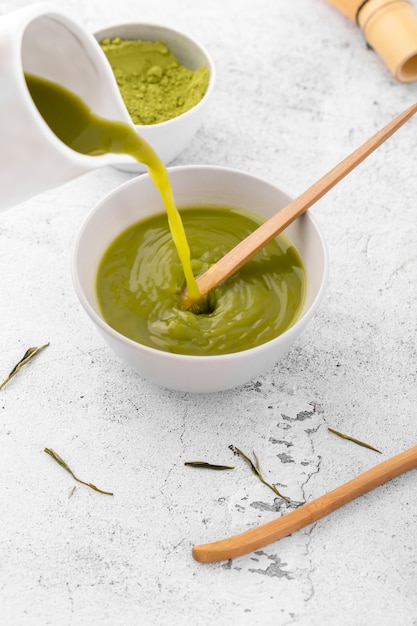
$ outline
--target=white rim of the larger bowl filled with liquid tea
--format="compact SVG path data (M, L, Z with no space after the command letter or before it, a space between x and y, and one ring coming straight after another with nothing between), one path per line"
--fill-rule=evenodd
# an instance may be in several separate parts
M239 170L239 169L235 169L235 168L231 168L231 167L223 167L223 166L213 166L213 165L177 165L177 166L172 166L172 167L168 167L168 174L170 173L175 173L175 171L196 171L198 169L202 169L202 170L210 170L210 171L222 171L222 172L231 172L232 174L240 174L240 175L244 175L248 178L252 178L254 181L256 181L257 183L262 182L262 183L266 183L267 185L272 185L273 187L275 187L278 191L281 191L282 193L284 193L284 195L286 195L287 197L288 194L286 194L285 192L283 192L277 185L274 185L262 178L260 178L259 176L255 176L253 174L247 173L243 170ZM321 244L321 248L322 248L322 253L323 253L323 272L322 272L322 276L320 279L320 286L317 290L317 294L314 298L314 300L311 302L309 308L307 311L302 312L301 315L296 319L296 321L289 327L287 328L283 333L281 333L280 335L278 335L277 337L274 337L273 339L270 339L269 341L266 341L265 343L262 343L258 346L252 347L252 348L247 348L244 350L240 350L238 352L229 352L226 354L215 354L215 355L194 355L194 354L178 354L176 352L168 352L168 351L164 351L164 350L158 350L156 348L152 348L151 346L147 346L145 344L139 343L137 341L134 341L133 339L129 339L129 337L126 337L125 335L123 335L122 333L120 333L119 331L117 331L116 329L114 329L112 326L110 326L101 315L99 315L99 313L91 306L87 296L84 293L84 290L82 288L81 285L81 281L79 279L78 276L78 271L77 271L77 259L78 259L78 252L80 249L80 245L82 242L82 238L83 238L83 234L85 229L88 226L88 223L90 221L90 219L96 215L97 213L100 212L101 207L106 204L111 198L113 198L114 196L118 195L121 191L123 191L124 189L126 189L127 187L130 186L134 186L135 184L138 183L139 179L145 179L148 178L150 179L149 174L142 174L140 177L136 176L124 183L122 183L121 185L118 185L117 187L115 187L114 189L112 189L110 192L108 192L107 194L105 194L105 196L103 196L95 205L94 207L91 209L91 211L87 214L87 216L85 217L83 223L81 224L81 227L78 231L78 236L76 238L76 241L74 243L73 246L73 251L72 251L72 255L71 255L71 275L72 275L72 281L73 281L73 286L75 289L75 292L78 296L78 299L81 303L81 305L83 306L84 310L86 311L87 315L90 317L90 319L94 322L94 324L96 324L97 328L100 329L101 332L106 333L107 335L110 335L113 341L118 341L121 342L122 344L124 344L124 346L126 346L129 349L132 350L141 350L144 351L145 353L149 353L151 355L156 355L159 357L163 357L165 359L168 359L169 361L178 361L179 363L181 362L194 362L194 363L199 363L204 361L205 363L211 361L211 362L215 362L215 361L232 361L232 360L237 360L237 359L242 359L244 355L249 355L250 354L258 354L261 353L265 350L269 350L272 344L276 344L279 345L280 343L283 342L292 342L293 339L293 335L298 336L300 334L300 327L301 330L304 328L304 326L307 324L307 322L310 320L311 317L313 317L313 315L315 314L316 309L319 307L323 297L324 297L324 293L326 291L326 286L327 286L327 282L328 282L328 278L329 278L329 266L330 266L330 259L329 259L329 251L328 251L328 247L327 247L327 243L324 239L324 236L320 230L320 227L316 221L316 219L313 217L313 215L310 213L310 211L307 211L306 213L304 213L304 215L301 215L299 218L297 219L309 219L316 231L317 237L320 241ZM117 234L115 235L117 236ZM104 250L103 250L104 252Z

